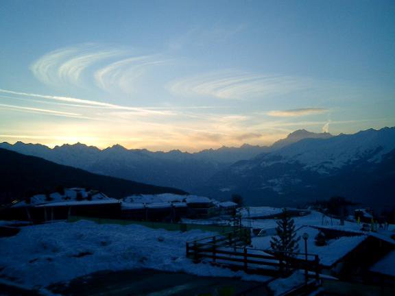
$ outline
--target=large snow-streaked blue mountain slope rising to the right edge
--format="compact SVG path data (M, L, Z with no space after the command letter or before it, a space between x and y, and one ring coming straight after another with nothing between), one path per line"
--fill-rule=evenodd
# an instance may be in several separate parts
M395 207L395 127L304 138L232 164L200 193L239 193L248 204L302 205L342 195L366 205Z

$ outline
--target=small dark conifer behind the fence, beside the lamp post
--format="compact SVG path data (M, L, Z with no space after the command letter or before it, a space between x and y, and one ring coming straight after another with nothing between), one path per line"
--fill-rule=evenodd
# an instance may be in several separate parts
M296 237L294 219L289 217L286 209L283 209L281 219L277 221L276 236L272 236L270 246L273 251L298 252L300 236Z

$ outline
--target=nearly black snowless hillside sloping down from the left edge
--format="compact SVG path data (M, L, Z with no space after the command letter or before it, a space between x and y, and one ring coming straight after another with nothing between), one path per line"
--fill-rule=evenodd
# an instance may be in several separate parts
M0 204L23 199L27 194L53 192L58 186L92 188L115 198L135 194L187 194L176 188L97 175L6 149L0 149L0 168Z

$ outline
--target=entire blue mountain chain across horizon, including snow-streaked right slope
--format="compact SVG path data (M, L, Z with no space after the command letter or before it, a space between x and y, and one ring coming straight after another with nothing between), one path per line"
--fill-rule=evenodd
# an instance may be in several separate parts
M77 143L1 143L1 148L38 156L93 173L182 188L229 199L243 195L250 205L298 205L344 195L365 204L395 206L395 127L357 134L297 130L270 147L243 145L197 153L152 152L114 145L97 149Z

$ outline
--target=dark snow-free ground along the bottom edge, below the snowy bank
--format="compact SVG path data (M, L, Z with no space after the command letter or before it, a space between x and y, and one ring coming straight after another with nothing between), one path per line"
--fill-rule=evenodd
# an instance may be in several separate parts
M152 270L99 272L50 287L58 295L267 295L266 285L229 277L197 277ZM0 285L0 295L40 295L36 291Z

